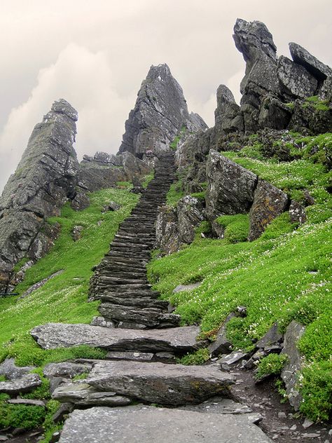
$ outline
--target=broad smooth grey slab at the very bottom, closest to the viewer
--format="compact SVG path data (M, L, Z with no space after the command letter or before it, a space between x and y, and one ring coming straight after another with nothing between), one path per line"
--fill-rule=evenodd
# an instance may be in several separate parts
M250 416L141 405L93 407L69 415L60 443L272 443Z

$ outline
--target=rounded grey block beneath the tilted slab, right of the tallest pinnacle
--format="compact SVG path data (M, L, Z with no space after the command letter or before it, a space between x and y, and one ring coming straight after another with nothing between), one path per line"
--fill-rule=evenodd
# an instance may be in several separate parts
M278 59L277 74L279 82L289 95L297 98L311 97L317 90L318 82L314 76L284 55Z

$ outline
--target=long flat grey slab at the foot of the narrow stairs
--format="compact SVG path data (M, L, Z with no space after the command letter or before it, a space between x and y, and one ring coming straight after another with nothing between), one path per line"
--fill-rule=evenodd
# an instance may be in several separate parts
M121 329L85 324L48 323L32 329L32 336L44 349L88 345L107 350L138 350L141 352L190 352L204 345L196 341L199 327L171 329Z

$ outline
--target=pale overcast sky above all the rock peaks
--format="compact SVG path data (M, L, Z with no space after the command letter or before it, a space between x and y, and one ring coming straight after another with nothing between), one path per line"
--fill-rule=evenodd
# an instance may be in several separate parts
M167 63L189 111L214 124L216 88L240 100L236 18L332 65L331 0L0 0L0 191L54 100L78 110L78 157L116 153L151 64Z

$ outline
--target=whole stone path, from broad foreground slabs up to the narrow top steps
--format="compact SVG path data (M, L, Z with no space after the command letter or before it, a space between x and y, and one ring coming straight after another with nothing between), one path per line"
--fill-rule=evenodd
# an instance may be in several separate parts
M64 424L62 443L271 441L254 425L260 416L231 400L233 375L219 364L175 362L177 355L206 343L198 340L198 327L179 327L179 315L146 277L158 206L173 180L173 154L167 153L95 268L90 298L102 300L101 316L92 325L50 323L32 331L43 348L88 344L109 351L106 360L46 366L53 398L62 402L58 418L75 409ZM217 407L202 407L207 401Z

